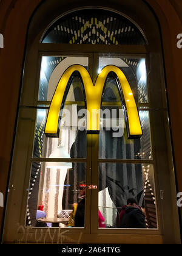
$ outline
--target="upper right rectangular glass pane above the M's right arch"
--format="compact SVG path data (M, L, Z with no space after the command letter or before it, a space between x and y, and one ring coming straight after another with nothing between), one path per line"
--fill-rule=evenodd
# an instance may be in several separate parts
M99 57L98 73L101 72L104 66L107 65L118 66L118 68L120 68L123 71L127 80L129 81L136 102L148 102L145 59L123 59L118 56ZM117 85L115 85L115 87L117 87ZM110 91L112 91L112 93L114 88L110 88ZM110 98L110 101L112 101L112 98Z

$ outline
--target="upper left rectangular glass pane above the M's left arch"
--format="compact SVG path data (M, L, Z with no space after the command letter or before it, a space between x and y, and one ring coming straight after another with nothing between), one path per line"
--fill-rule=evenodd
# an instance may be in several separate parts
M62 57L53 57L53 56L43 56L41 62L41 74L39 81L39 101L51 101L55 89L58 85L59 80L61 79L62 74L66 71L69 66L74 64L83 65L88 69L88 57L71 57L71 56L62 56ZM75 88L74 84L79 84L76 81L73 81L72 85L72 100L78 100L78 85Z

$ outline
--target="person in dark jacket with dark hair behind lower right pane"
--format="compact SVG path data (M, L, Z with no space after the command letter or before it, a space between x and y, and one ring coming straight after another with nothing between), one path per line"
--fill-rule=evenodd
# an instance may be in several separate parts
M146 229L145 216L141 208L136 205L136 201L133 204L128 204L128 202L120 227L123 229Z

